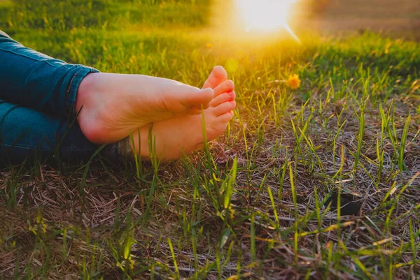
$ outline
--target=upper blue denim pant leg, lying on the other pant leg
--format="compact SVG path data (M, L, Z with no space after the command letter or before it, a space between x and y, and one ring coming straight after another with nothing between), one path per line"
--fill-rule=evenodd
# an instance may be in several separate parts
M75 115L80 82L99 72L53 59L0 33L0 98L66 119Z

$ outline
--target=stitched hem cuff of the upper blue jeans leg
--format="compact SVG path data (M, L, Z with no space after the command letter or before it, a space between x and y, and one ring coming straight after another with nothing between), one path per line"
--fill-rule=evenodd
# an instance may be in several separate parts
M64 107L66 108L66 112L71 117L75 117L78 112L76 112L76 97L78 87L80 86L80 82L89 75L90 73L99 73L99 71L95 68L76 64L74 65L74 69L71 70L73 73L73 77L71 78L69 85L66 90L66 99Z

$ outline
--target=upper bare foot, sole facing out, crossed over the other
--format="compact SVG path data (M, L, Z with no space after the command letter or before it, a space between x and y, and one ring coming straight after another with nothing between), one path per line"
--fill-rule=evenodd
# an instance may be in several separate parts
M92 73L80 83L76 112L82 108L78 124L87 139L104 144L146 124L197 114L213 97L212 89L164 78Z

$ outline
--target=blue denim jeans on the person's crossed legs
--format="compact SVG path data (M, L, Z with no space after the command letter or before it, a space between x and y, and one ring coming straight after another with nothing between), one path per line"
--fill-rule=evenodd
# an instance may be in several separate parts
M99 148L76 121L80 82L99 72L66 64L11 39L0 31L0 162L21 162L37 154L88 159ZM102 153L118 157L118 143Z

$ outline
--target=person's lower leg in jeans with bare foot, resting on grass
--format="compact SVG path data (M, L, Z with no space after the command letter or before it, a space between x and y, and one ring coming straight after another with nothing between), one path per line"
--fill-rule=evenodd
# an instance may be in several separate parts
M215 68L204 87L214 88L216 98L204 110L207 140L223 133L235 108L235 86L226 80L223 68ZM141 151L137 147L139 135L134 131L134 143L142 158L148 159L149 126L139 128ZM204 140L202 138L201 115L190 115L160 121L153 126L156 139L156 156L162 160L178 159L183 153L193 151ZM88 159L98 149L80 131L75 122L69 125L62 118L21 107L0 100L0 162L20 162L38 149L43 158L58 154L76 159ZM132 155L130 139L107 145L102 150L111 159L123 159Z

